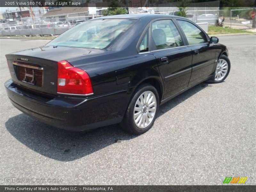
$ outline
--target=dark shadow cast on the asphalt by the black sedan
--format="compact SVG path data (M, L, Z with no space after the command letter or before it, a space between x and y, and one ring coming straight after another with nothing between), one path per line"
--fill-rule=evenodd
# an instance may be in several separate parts
M211 85L199 84L173 98L160 106L158 116L163 115L207 86ZM122 140L138 137L138 135L124 132L118 124L89 132L69 132L41 123L24 114L9 118L5 122L5 126L13 137L28 148L58 161L74 161L109 145L118 144Z

